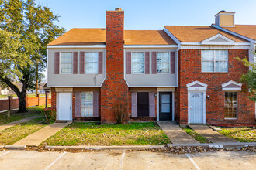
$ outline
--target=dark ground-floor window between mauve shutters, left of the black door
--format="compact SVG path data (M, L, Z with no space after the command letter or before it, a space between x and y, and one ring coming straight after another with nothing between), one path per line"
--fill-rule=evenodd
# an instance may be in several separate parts
M149 93L148 92L137 93L137 116L149 117Z

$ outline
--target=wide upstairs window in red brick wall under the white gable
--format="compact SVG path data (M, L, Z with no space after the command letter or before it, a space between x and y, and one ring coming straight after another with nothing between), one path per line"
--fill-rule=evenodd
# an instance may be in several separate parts
M227 50L202 50L202 72L228 72Z

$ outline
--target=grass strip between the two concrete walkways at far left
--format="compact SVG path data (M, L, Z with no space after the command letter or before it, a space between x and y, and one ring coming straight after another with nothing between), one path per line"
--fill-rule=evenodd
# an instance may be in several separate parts
M22 138L25 138L29 134L32 134L35 131L40 130L47 126L44 118L36 118L26 123L17 124L11 128L7 128L3 131L0 131L0 145L12 145L16 141L19 141Z

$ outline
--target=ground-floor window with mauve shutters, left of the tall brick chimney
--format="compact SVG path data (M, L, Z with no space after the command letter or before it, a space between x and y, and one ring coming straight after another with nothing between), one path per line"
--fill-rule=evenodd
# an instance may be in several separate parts
M81 117L93 116L93 92L81 92Z

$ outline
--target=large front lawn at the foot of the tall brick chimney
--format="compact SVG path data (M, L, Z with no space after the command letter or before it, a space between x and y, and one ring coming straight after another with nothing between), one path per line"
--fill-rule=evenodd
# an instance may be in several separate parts
M170 143L153 122L97 125L74 122L43 141L47 145L164 145Z

